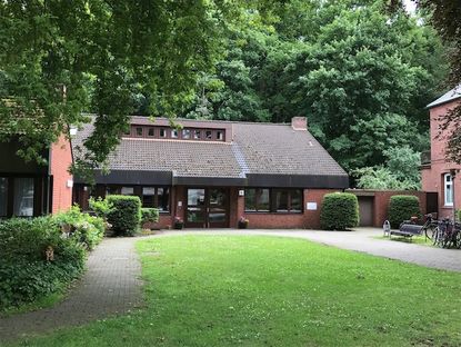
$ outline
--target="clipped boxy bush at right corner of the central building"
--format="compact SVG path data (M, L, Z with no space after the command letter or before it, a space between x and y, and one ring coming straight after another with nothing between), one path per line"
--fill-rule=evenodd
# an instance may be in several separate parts
M323 197L320 225L325 230L345 230L359 225L359 201L353 194L333 192Z

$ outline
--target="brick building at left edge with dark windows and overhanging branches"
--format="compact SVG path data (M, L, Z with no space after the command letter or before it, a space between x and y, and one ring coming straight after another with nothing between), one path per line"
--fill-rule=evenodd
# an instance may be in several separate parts
M67 210L72 205L72 149L62 136L41 156L47 165L17 156L18 139L0 142L0 218L33 217Z

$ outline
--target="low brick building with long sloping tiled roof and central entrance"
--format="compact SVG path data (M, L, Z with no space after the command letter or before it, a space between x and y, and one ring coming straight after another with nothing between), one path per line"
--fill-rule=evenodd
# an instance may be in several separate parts
M186 227L237 227L242 216L253 228L318 228L327 192L348 188L345 171L308 131L307 120L290 125L179 119L154 122L132 117L130 131L109 157L109 175L96 186L76 178L73 200L88 208L90 196L139 196L160 209L157 226L174 217ZM80 129L81 146L92 125Z

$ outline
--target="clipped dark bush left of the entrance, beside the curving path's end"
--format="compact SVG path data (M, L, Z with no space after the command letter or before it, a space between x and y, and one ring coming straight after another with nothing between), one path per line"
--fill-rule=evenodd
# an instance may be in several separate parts
M139 197L112 195L106 198L112 205L108 221L116 236L133 236L141 222L141 200Z

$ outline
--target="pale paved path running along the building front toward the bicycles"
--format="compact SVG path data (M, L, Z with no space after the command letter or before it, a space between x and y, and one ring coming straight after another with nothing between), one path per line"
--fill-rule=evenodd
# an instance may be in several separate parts
M178 234L233 234L270 235L309 239L323 245L355 250L373 256L402 260L430 268L461 271L461 249L441 249L415 244L377 239L382 236L378 228L358 228L355 231L324 230L187 230L166 231L163 235Z

